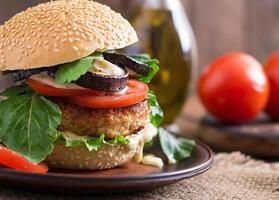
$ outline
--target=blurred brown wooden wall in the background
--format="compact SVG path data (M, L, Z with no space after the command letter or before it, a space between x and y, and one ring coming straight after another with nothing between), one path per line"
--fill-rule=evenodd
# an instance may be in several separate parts
M46 0L0 0L0 23ZM99 0L127 11L140 0ZM264 62L279 49L279 0L182 0L195 31L200 67L230 51L245 51Z

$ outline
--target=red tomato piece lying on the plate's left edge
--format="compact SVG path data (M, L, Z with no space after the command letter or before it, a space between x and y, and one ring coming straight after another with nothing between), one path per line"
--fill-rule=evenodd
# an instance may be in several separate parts
M48 167L45 164L34 164L29 162L18 153L0 146L0 165L19 171L31 173L47 173Z

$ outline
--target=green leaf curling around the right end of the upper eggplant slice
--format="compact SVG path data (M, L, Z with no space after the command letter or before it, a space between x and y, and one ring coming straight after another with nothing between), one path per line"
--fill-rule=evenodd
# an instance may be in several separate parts
M151 59L151 57L148 54L131 55L129 57L131 59L136 60L137 62L149 65L152 69L147 76L145 76L145 75L139 75L138 76L137 79L141 82L150 83L151 80L153 79L153 77L160 70L159 61L157 59Z

